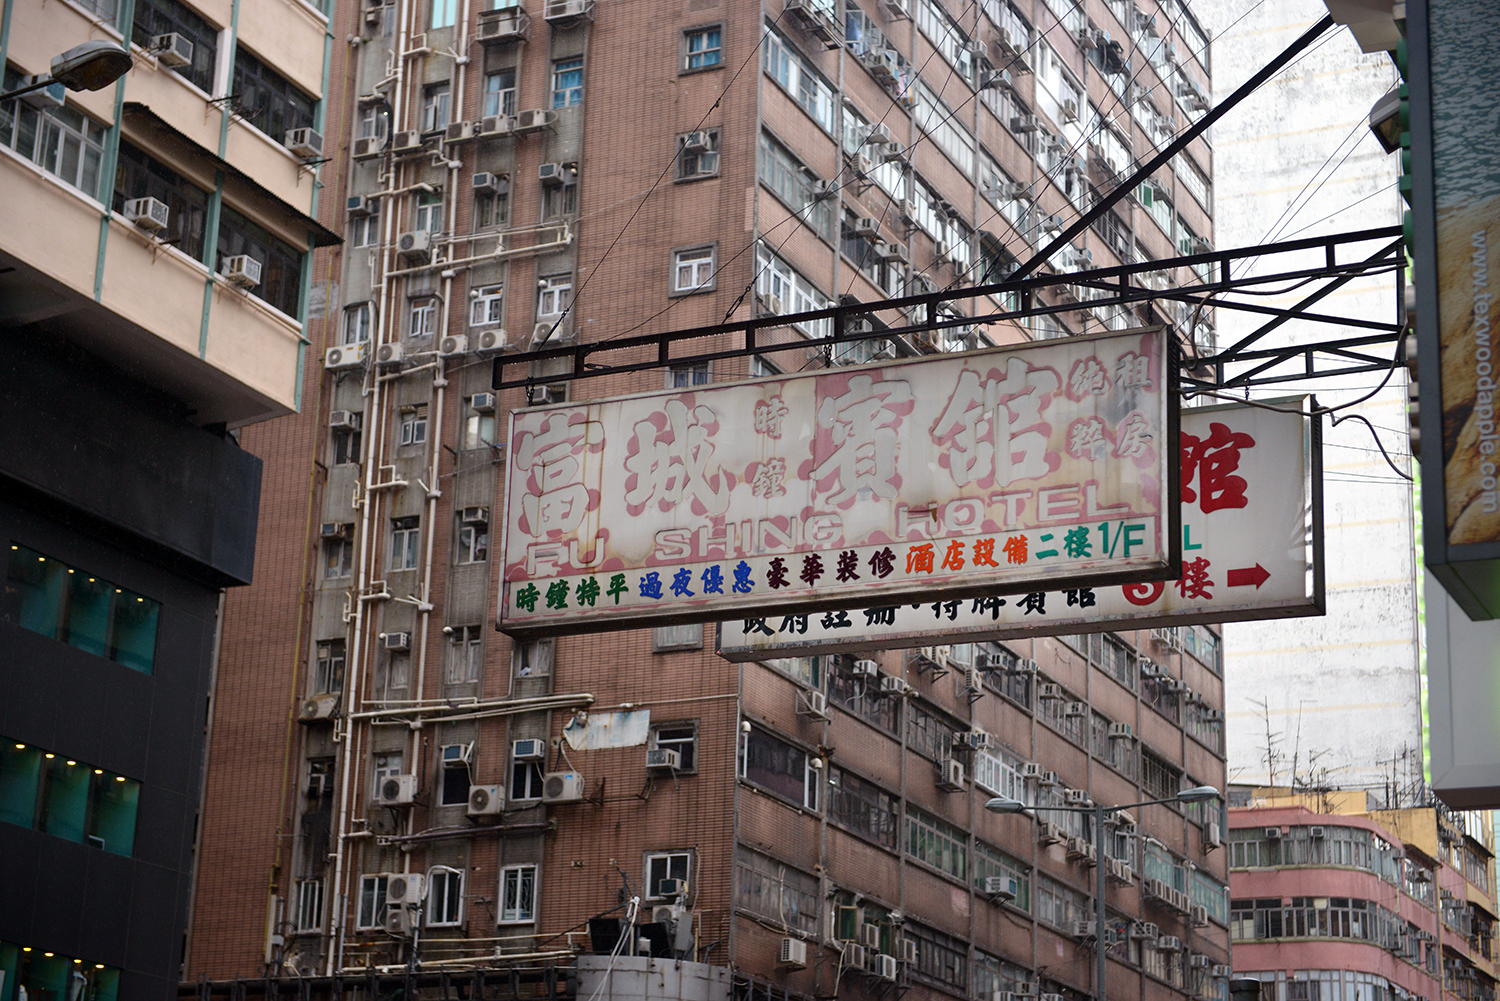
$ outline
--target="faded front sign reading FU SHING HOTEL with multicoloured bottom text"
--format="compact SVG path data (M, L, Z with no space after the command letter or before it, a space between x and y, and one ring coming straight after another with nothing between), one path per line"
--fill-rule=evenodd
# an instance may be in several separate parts
M1160 329L512 414L500 629L1176 573Z

